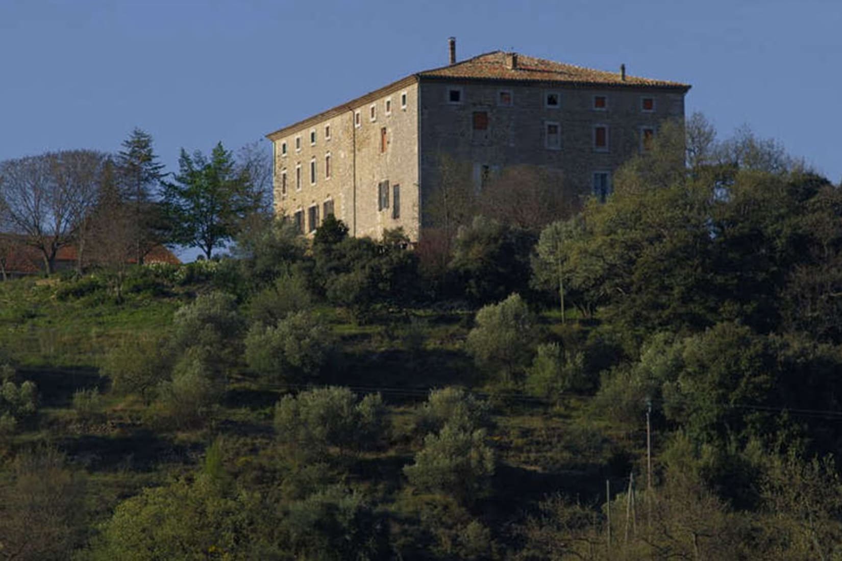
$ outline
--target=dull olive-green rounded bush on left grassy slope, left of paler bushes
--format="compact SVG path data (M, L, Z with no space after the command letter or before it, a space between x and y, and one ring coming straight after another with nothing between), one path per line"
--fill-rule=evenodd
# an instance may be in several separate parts
M138 394L148 403L172 365L173 354L162 337L126 337L105 353L99 372L111 378L116 394Z

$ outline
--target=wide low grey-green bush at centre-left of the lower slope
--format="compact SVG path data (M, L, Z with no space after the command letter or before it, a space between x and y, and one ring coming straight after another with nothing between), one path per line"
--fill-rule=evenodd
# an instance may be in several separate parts
M377 447L388 428L380 394L361 400L347 388L329 387L286 395L275 405L274 428L281 442L322 451Z

